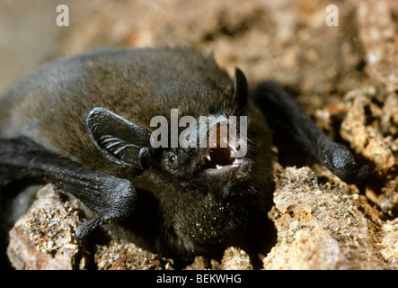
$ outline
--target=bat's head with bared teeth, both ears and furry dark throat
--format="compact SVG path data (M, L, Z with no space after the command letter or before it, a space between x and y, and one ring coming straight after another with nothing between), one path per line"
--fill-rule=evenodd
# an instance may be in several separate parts
M205 115L174 107L170 118L154 117L152 131L104 108L86 117L93 143L111 162L141 171L132 183L152 202L140 203L138 194L136 211L151 216L136 217L133 226L150 229L141 230L144 238L164 254L208 254L246 229L264 208L270 133L249 103L238 68L231 90L217 100L216 109L201 101L202 107L212 104L201 110L208 111ZM156 220L144 223L142 217L150 221L154 213Z

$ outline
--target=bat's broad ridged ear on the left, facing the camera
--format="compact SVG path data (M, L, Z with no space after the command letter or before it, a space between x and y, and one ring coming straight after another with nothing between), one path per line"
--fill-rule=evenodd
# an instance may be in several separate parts
M88 112L85 127L111 162L142 169L150 165L153 148L148 130L102 107Z

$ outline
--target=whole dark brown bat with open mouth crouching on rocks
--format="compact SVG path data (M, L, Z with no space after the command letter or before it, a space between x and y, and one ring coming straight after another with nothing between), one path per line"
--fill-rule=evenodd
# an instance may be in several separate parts
M164 145L154 147L159 125L151 121L172 126L174 116L179 125L165 126ZM186 135L182 119L203 124L201 117L220 116L224 121L190 126L188 137L195 143L213 130L218 145L172 145L172 129ZM247 135L236 119L247 120ZM15 182L42 179L94 212L75 231L80 243L103 224L119 223L137 245L164 256L213 256L269 208L269 122L355 183L358 164L349 150L275 82L251 92L239 68L231 79L213 58L189 49L96 49L57 59L0 96L0 194L8 197ZM221 127L239 140L222 137ZM243 144L244 156L232 157Z

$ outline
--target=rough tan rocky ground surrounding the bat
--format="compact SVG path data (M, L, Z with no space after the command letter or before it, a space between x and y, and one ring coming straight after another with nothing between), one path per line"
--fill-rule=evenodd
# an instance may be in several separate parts
M398 11L394 0L375 3L333 1L339 26L330 27L323 0L70 0L70 25L58 27L56 2L2 1L0 90L48 60L98 46L190 46L214 53L230 74L241 67L251 87L274 78L374 171L359 193L305 156L285 163L288 151L279 149L269 214L278 241L260 268L398 269ZM45 191L11 231L16 268L173 267L119 239L94 247L89 260L73 237L80 208L52 186ZM254 262L229 247L222 260L196 257L187 269L259 268Z

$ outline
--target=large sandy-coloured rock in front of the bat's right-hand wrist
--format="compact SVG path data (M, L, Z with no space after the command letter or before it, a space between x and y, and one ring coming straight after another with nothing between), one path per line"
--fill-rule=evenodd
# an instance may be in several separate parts
M358 210L359 195L341 184L318 183L309 167L287 167L274 193L270 218L278 243L264 269L385 269Z

